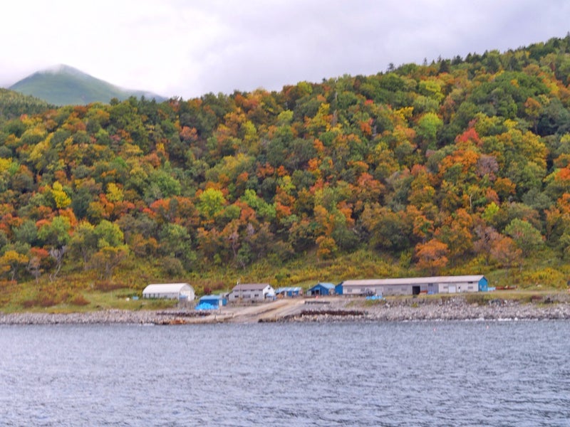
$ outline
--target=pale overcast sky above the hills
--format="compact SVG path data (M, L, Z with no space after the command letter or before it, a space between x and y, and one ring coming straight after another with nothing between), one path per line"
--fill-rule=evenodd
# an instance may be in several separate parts
M503 52L570 31L568 0L8 0L0 11L1 87L66 64L185 99Z

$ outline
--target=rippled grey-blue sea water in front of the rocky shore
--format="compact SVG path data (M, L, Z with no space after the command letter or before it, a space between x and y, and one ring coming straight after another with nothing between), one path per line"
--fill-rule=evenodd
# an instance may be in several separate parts
M0 426L570 426L570 322L0 327Z

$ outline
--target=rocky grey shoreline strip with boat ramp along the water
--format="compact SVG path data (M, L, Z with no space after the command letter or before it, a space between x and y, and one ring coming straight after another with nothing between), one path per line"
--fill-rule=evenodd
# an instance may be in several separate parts
M487 304L469 303L465 297L445 300L383 300L368 304L363 298L329 297L288 300L261 305L223 307L214 312L193 309L128 311L101 310L51 314L1 313L0 325L189 325L257 322L410 322L569 320L570 302L518 302L497 298Z

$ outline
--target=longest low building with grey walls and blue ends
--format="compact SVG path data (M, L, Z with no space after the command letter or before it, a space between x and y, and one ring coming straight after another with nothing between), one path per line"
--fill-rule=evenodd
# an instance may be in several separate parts
M488 281L484 275L345 280L336 285L336 293L342 295L418 295L487 290Z

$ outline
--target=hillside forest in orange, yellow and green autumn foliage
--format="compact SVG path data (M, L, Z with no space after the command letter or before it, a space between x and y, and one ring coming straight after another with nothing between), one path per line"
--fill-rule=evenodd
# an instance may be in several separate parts
M408 275L566 265L569 76L566 36L280 92L6 120L1 272L112 282L145 265L167 281L264 265L291 282L281 266L350 253Z

